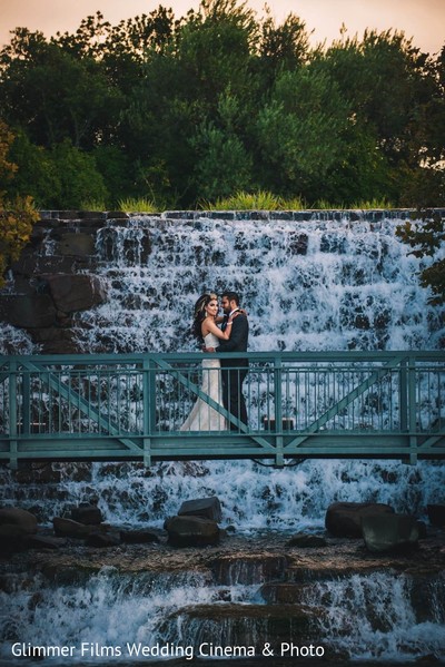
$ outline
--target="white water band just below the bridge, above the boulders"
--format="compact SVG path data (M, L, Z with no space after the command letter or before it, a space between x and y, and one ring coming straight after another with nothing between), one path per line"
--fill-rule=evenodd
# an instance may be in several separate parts
M117 526L161 528L182 501L217 496L221 526L237 532L320 530L332 502L385 502L426 520L426 504L443 502L444 465L398 461L310 461L284 469L246 461L159 463L147 470L131 463L53 464L53 483L14 484L3 475L0 504L20 503L50 524L81 502L97 502ZM59 472L59 471L58 471Z

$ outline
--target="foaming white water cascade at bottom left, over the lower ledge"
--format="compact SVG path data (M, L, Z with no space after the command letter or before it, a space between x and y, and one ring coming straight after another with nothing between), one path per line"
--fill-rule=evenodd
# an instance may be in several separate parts
M24 644L32 646L75 646L76 651L70 656L73 663L142 658L142 655L138 656L140 644L149 647L167 645L170 651L164 657L175 657L172 646L190 646L181 637L175 619L177 609L210 605L221 597L248 604L257 589L257 586L215 586L199 572L159 575L147 571L135 576L119 573L112 567L101 568L85 581L57 587L39 577L28 581L24 588L18 587L16 611L2 630L3 636L19 634L26 637ZM0 591L0 604L3 609L10 607L7 592ZM109 646L112 650L107 655L102 648L100 656L96 653L98 646ZM17 646L14 651L26 648ZM0 658L7 653L0 650ZM23 656L29 657L29 651ZM162 657L162 654L156 657Z

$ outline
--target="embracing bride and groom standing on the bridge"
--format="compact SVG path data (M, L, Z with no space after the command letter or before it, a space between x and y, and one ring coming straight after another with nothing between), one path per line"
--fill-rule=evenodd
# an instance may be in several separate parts
M239 307L236 292L221 295L224 316L219 315L218 297L202 294L195 305L192 332L205 352L246 352L249 335L247 315ZM247 424L243 382L247 375L247 359L205 359L200 390L222 405L235 419ZM181 431L226 431L239 428L229 422L205 400L198 399Z

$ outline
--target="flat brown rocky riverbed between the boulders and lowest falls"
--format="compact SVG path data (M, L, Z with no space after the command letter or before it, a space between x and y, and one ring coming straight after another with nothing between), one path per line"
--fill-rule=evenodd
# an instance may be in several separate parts
M52 534L50 529L42 534ZM413 576L438 573L445 567L445 532L428 530L419 540L417 549L408 553L369 553L360 539L324 536L319 547L290 546L290 534L261 531L257 534L236 534L228 531L220 543L206 548L177 549L167 543L167 533L154 529L157 542L148 545L119 545L108 549L86 547L79 540L63 539L55 549L32 549L14 553L2 568L13 567L42 572L73 571L93 573L103 567L113 567L122 573L214 571L222 563L245 563L254 571L259 567L264 576L276 578L286 573L287 579L313 581L326 577L366 573L388 568ZM255 563L255 567L254 567ZM249 568L247 568L249 569ZM224 570L224 568L222 568ZM248 577L248 575L246 575ZM247 582L247 581L245 581Z

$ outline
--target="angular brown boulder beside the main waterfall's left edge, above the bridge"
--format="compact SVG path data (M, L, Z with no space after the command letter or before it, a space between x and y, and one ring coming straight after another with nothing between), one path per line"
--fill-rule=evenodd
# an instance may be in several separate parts
M56 274L46 276L50 294L59 311L88 311L106 300L102 283L92 275Z

